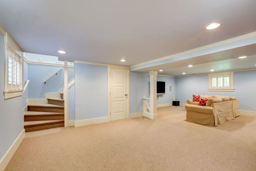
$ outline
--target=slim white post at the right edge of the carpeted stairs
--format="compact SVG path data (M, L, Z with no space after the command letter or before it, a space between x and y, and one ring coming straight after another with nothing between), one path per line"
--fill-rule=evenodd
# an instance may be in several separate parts
M68 127L68 61L64 61L64 125Z

